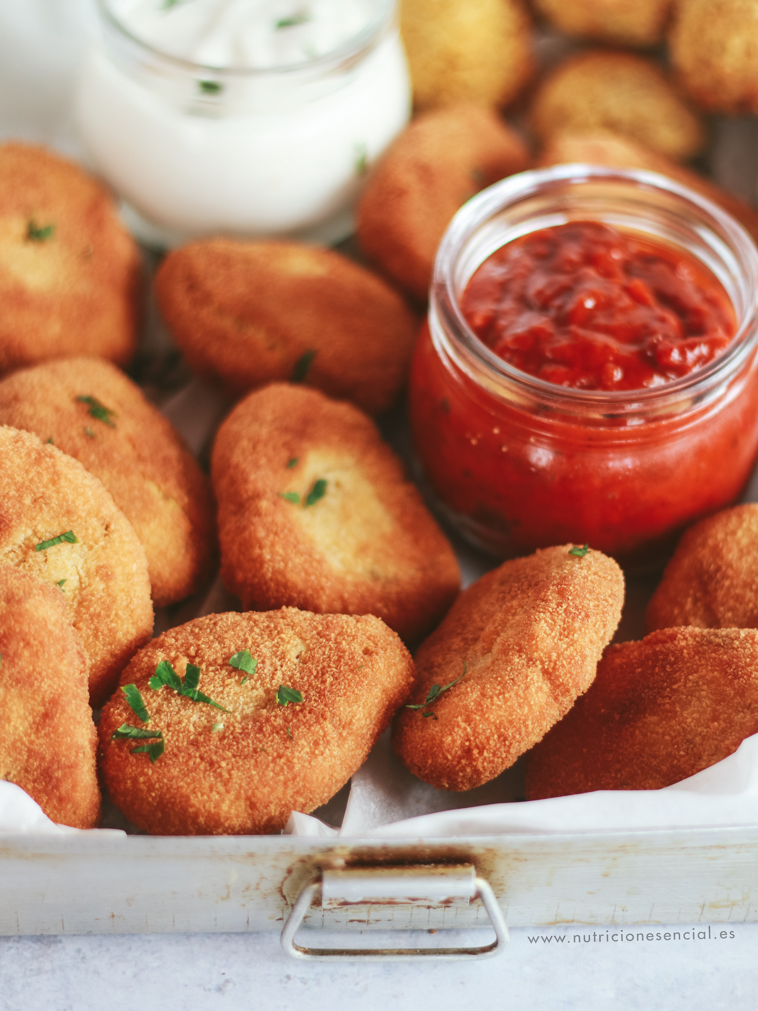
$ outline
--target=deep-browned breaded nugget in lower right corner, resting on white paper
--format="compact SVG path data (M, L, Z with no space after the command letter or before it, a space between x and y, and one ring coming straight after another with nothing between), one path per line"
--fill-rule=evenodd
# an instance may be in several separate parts
M662 629L610 646L594 683L527 756L527 798L660 790L758 731L758 631Z

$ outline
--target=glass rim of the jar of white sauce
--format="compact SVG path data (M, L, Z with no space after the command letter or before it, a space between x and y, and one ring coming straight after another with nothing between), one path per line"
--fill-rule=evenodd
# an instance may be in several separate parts
M336 70L343 64L351 63L374 45L377 38L395 16L397 0L377 0L377 2L379 12L368 24L353 35L352 38L349 38L346 42L342 42L336 49L319 57L301 60L298 63L275 64L271 67L216 67L212 64L196 63L194 60L173 56L171 53L157 49L150 42L145 41L144 38L135 35L119 20L113 10L111 10L109 0L96 0L97 10L102 20L129 45L134 47L145 54L149 54L153 59L165 62L176 70L184 71L195 77L200 74L211 74L214 77L224 80L232 78L250 80L268 76L284 78L289 74L302 73L303 71L323 71L326 73Z

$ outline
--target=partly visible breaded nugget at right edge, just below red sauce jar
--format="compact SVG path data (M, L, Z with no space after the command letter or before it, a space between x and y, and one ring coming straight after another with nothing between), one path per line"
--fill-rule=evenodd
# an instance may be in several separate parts
M645 627L758 628L758 503L735 505L682 535Z

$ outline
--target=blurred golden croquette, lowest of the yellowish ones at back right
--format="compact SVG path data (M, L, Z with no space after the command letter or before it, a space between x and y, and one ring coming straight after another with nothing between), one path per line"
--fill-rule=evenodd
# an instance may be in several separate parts
M609 50L560 64L538 88L531 120L543 142L561 130L610 129L677 160L691 158L705 140L660 67Z

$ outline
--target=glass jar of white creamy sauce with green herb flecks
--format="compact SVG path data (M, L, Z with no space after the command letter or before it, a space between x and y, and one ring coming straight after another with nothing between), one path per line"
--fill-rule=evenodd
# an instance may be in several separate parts
M410 86L394 0L98 0L76 116L137 238L335 243Z

